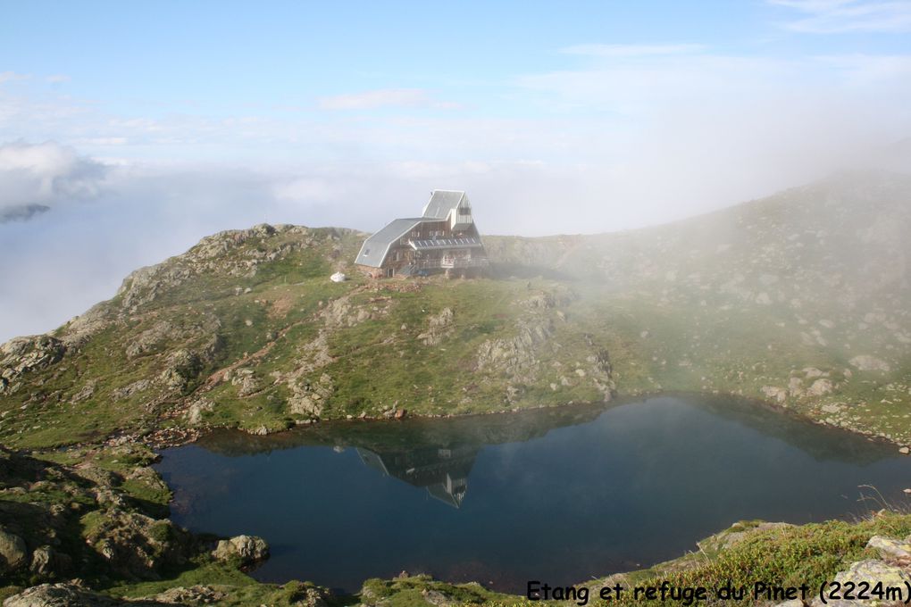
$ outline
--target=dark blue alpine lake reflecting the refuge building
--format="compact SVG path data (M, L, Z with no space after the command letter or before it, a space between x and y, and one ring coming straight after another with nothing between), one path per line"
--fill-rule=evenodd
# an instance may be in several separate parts
M223 430L162 451L157 469L178 524L269 542L253 577L344 592L402 571L517 593L584 582L735 521L906 508L911 487L894 445L704 396Z

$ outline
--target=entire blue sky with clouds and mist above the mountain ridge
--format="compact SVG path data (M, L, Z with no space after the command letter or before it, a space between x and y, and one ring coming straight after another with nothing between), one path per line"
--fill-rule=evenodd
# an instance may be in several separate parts
M911 136L911 0L0 2L0 339L219 229L636 228Z

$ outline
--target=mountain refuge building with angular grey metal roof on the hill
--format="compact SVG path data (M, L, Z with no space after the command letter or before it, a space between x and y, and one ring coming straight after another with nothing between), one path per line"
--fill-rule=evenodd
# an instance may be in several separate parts
M354 261L374 278L467 276L487 265L487 254L465 192L435 189L419 218L394 219L363 241Z

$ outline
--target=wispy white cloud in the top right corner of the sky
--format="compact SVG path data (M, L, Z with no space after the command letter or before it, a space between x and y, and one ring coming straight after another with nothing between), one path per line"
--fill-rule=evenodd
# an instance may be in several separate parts
M807 34L850 32L911 32L911 2L907 0L768 0L802 13L784 23Z

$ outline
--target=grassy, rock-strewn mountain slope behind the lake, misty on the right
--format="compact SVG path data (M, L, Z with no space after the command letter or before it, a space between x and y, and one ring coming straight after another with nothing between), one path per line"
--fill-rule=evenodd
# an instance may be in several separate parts
M477 280L367 281L351 230L223 232L7 342L0 441L689 390L907 443L908 201L908 177L844 175L657 228L487 237L496 263ZM337 269L353 279L332 283Z

